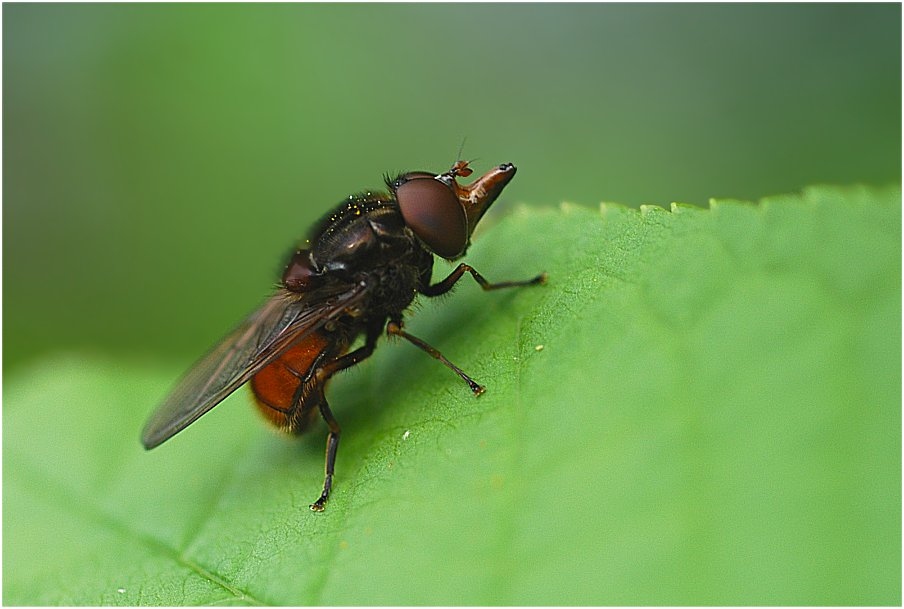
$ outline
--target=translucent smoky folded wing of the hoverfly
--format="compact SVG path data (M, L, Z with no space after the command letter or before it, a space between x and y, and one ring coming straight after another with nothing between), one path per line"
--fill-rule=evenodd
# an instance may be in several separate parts
M292 343L304 339L366 292L351 288L298 296L280 292L201 358L157 408L141 434L145 448L170 439L223 401Z

